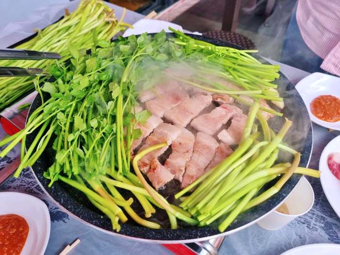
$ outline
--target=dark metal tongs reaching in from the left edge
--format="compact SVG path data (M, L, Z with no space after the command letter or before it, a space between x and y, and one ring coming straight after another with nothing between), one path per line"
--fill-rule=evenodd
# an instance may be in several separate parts
M0 59L11 60L61 59L61 55L55 52L0 49ZM44 69L41 68L0 67L0 77L41 76L41 75L47 75L47 72L45 72Z

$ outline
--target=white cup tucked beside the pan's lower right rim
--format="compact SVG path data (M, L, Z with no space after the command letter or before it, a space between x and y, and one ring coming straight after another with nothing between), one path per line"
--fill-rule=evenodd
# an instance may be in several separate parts
M288 213L282 213L276 208L263 219L257 221L257 225L267 230L278 230L296 217L306 214L314 204L314 191L308 180L303 176L294 190L280 205L287 208Z

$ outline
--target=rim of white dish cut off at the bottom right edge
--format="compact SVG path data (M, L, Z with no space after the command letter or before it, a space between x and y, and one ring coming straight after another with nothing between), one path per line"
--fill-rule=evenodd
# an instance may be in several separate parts
M290 249L281 255L339 255L340 244L314 243Z

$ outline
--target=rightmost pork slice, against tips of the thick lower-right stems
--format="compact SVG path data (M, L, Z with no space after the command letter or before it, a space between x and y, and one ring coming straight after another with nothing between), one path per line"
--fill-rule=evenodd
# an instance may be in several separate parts
M222 130L217 137L228 145L239 144L247 119L248 116L243 113L236 114L229 128Z

